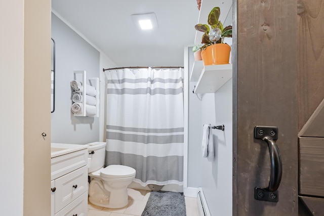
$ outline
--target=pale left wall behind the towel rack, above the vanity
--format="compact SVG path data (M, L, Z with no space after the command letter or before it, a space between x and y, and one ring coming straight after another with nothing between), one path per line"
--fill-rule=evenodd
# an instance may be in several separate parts
M53 13L52 38L56 45L56 71L51 141L71 144L99 141L100 117L75 117L70 110L70 81L74 79L73 70L86 70L89 78L99 77L100 53Z

